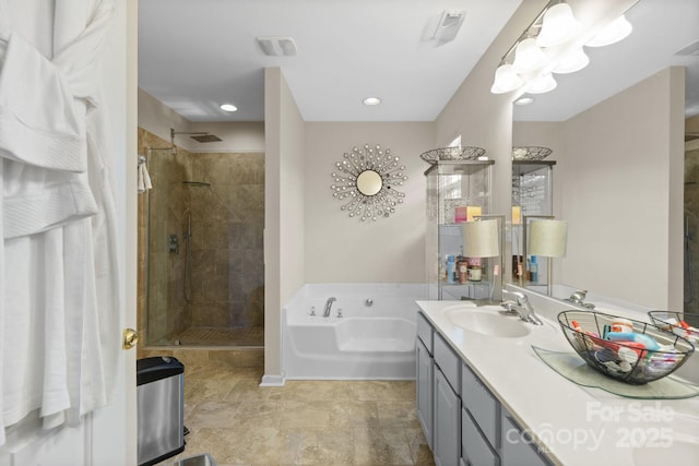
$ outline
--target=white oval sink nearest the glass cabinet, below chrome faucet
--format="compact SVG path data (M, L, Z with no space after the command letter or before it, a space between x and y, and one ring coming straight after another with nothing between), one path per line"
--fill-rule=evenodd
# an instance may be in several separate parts
M498 310L457 306L446 309L452 324L467 332L502 338L526 336L530 325L518 318L502 315Z

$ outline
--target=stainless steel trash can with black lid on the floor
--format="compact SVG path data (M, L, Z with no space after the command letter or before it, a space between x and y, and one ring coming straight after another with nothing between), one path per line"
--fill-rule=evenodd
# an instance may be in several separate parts
M139 466L185 450L185 366L176 358L137 360Z

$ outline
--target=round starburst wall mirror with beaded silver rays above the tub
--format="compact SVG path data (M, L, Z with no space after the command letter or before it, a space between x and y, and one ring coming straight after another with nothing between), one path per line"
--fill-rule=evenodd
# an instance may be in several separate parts
M362 222L394 214L405 198L395 187L407 180L405 166L399 166L399 162L390 148L382 150L378 144L345 152L335 163L337 171L330 174L334 181L332 195L344 202L340 210Z

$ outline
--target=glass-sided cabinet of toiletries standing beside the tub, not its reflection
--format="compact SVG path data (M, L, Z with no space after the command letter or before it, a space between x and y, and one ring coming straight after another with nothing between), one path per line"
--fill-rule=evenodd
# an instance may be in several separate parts
M488 271L493 271L495 259L483 259L479 266L473 264L471 271L460 275L458 258L463 256L462 224L490 213L493 164L494 160L440 160L425 171L428 299L489 297L493 274ZM450 256L454 259L453 266L449 265Z

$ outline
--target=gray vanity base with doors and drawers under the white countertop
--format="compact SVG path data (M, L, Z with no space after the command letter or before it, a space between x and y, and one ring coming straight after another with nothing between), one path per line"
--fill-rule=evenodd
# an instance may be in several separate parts
M552 465L422 312L416 343L417 417L436 465Z

